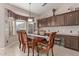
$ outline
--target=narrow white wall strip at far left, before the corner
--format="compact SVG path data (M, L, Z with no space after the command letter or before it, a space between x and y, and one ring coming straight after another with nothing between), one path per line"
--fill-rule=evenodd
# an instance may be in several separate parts
M4 5L0 4L0 48L3 48L5 45L5 10Z

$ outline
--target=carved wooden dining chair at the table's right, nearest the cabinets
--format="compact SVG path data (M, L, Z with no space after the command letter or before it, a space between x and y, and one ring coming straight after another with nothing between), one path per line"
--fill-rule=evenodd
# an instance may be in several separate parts
M49 55L49 51L51 49L51 52L52 52L52 56L54 55L53 54L53 46L54 46L54 40L55 40L55 36L56 36L56 32L51 32L49 34L49 37L48 37L48 42L47 43L43 43L43 42L38 42L38 50L40 52L40 50L42 52L46 52L47 56Z

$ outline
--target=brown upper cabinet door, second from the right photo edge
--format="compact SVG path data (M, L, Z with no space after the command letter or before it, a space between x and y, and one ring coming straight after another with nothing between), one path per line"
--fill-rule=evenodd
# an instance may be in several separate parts
M76 24L76 12L69 12L65 14L65 25L75 25Z

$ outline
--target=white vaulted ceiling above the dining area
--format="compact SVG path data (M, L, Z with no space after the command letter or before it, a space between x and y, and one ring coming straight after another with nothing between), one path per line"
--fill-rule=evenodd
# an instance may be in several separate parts
M22 8L24 10L29 11L29 3L10 3L16 7ZM74 4L66 4L66 3L47 3L45 6L42 6L43 3L31 3L31 12L37 15L42 15L46 13L49 9L52 11L53 8L61 8L62 6L73 6Z

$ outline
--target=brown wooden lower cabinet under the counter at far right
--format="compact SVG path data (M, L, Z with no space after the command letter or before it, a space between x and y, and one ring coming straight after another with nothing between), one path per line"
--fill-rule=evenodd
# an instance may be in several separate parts
M64 43L67 48L79 50L79 38L76 36L66 36Z

